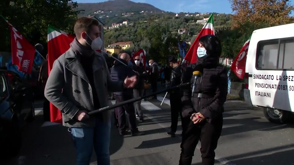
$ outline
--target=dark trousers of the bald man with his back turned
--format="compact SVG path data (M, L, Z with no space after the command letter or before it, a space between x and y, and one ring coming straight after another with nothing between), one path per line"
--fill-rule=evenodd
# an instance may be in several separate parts
M115 100L117 103L130 100L132 97L124 97L122 95L115 95ZM134 103L129 103L127 105L117 107L116 113L119 121L119 132L122 133L126 130L126 115L129 119L129 127L131 132L138 130L136 124L135 108Z

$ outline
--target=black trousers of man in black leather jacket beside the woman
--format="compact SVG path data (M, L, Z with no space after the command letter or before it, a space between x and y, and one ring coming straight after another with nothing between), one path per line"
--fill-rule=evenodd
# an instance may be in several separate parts
M169 99L171 102L171 132L176 132L178 127L179 114L181 117L182 128L183 116L182 116L182 106L181 106L181 97L179 94L170 94Z

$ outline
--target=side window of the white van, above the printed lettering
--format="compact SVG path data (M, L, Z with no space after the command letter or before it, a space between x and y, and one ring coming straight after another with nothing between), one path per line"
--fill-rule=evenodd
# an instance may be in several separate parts
M280 41L280 43L279 43ZM280 48L279 48L280 46ZM294 69L294 39L261 41L257 46L257 69Z

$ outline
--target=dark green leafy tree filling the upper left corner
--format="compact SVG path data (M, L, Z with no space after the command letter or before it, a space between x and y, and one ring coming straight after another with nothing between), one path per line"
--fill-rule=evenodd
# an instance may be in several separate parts
M1 0L0 13L31 44L42 43L46 46L48 24L73 33L78 14L73 10L76 6L73 0ZM10 31L4 20L0 24L0 31L0 51L10 51Z

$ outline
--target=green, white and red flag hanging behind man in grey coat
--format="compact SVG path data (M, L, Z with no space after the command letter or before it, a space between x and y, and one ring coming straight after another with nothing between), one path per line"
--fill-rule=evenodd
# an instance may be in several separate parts
M74 36L48 25L48 71L52 69L54 61L70 48ZM51 122L62 123L61 112L50 103Z

